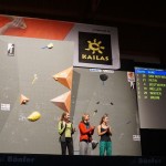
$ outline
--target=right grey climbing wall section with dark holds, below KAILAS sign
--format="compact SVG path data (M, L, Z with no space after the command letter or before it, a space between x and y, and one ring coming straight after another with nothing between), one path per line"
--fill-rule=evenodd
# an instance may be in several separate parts
M135 83L128 77L128 72L74 68L71 114L76 128L84 113L90 114L91 124L96 127L101 117L108 114L114 156L141 155ZM75 154L79 154L79 137L76 131ZM93 139L100 142L97 128ZM100 154L98 145L92 154Z

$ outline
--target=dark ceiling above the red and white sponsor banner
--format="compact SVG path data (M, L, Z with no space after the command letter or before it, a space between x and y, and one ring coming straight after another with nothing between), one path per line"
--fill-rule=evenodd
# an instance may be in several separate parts
M116 27L121 54L166 61L164 1L1 0L0 13Z

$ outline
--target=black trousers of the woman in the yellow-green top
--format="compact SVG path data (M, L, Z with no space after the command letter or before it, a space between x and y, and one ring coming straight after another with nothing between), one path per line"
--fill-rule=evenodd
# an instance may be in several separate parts
M69 155L73 155L74 154L73 139L71 137L66 137L65 142L61 142L61 149L62 149L62 155L66 155L66 149Z

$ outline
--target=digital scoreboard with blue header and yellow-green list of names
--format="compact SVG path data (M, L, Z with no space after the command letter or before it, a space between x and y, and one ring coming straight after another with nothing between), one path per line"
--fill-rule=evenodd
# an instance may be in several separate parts
M141 128L166 128L166 70L135 68Z

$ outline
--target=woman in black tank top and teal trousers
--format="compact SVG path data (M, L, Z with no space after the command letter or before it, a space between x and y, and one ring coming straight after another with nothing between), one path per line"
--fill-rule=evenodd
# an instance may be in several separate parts
M108 126L108 116L107 114L103 115L101 118L101 123L97 126L97 134L101 136L100 139L100 156L104 156L106 153L106 156L112 155L112 131Z

